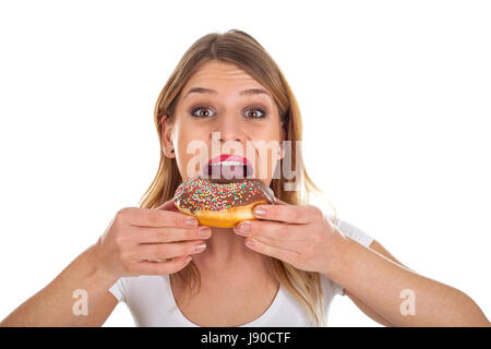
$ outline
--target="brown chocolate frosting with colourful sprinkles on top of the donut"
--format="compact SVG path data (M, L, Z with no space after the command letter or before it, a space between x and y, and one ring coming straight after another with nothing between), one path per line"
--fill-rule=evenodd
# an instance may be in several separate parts
M274 204L273 190L256 179L193 178L182 182L173 195L176 205L191 213L221 210L266 200Z

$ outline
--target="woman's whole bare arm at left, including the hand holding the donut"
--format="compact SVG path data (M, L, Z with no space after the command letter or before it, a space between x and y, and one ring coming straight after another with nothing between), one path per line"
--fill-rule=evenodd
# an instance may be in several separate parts
M94 245L0 326L101 325L117 304L108 289L120 277L177 273L203 251L195 246L211 237L209 228L176 210L172 200L155 209L120 209Z

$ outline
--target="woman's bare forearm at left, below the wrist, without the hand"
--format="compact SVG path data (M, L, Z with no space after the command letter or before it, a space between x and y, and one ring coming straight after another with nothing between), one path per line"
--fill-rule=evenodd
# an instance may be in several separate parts
M81 298L73 298L77 289L87 293L88 314L117 281L113 277L103 275L97 268L94 245L80 254L48 286L29 298L9 316L0 326L81 326L87 320L73 306ZM80 297L80 296L79 296ZM116 301L116 299L115 299ZM76 306L75 306L76 308ZM112 306L113 309L113 306Z

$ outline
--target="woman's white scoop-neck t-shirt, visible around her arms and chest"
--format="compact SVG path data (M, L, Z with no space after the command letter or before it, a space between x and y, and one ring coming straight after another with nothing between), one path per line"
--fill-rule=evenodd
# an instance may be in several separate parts
M373 238L343 219L334 221L337 228L350 239L369 246ZM324 304L324 321L335 294L343 294L343 288L321 274ZM118 302L124 302L136 326L141 327L199 327L188 320L170 288L168 275L141 275L121 277L109 291ZM270 308L259 317L239 327L311 327L307 310L280 285Z

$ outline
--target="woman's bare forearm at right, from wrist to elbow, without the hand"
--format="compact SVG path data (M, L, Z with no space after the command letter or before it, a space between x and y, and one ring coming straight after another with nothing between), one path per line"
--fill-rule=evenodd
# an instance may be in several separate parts
M349 238L336 237L337 262L325 276L394 326L490 326L464 292L416 274ZM415 296L414 315L402 311L403 302L411 301L402 298L404 290Z

